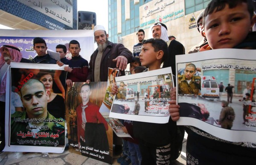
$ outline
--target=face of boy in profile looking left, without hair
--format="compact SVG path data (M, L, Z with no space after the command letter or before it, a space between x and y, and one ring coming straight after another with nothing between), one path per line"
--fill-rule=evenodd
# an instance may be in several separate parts
M149 67L155 61L157 61L158 52L154 51L151 43L143 44L140 52L141 66Z

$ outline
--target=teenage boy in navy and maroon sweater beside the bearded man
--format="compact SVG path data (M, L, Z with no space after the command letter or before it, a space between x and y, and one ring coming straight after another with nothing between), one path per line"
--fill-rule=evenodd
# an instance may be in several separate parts
M64 70L67 71L67 87L72 87L73 82L85 82L87 80L89 64L86 59L79 55L81 48L78 41L70 41L68 50L72 54L72 59L67 62L69 66L64 67ZM63 65L59 61L57 64Z

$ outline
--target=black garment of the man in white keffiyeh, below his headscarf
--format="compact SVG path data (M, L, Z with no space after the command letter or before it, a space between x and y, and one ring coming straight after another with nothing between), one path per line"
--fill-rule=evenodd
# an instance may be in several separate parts
M185 54L185 48L180 42L174 39L168 47L168 56L165 56L163 59L163 68L172 67L172 74L176 75L175 56L180 54Z

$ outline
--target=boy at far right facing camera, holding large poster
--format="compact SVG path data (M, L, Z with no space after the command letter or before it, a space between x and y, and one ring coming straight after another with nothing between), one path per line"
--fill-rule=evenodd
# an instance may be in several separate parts
M219 48L256 49L256 20L251 0L212 0L204 13L204 29L209 45L202 50ZM254 37L253 37L254 36ZM176 105L176 88L171 92L169 112L172 120L180 118ZM255 143L229 142L193 126L185 126L188 134L186 155L188 164L251 164L255 162Z

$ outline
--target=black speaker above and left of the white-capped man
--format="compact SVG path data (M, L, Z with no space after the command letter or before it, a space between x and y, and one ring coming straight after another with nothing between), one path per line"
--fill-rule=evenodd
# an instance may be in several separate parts
M96 25L96 13L90 11L78 11L77 29L92 30L92 24Z

